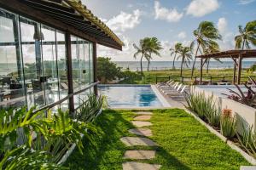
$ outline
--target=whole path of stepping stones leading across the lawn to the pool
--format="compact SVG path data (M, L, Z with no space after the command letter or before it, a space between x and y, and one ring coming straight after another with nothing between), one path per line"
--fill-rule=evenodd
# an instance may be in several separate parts
M126 146L158 146L153 140L145 138L148 136L152 136L152 132L148 126L151 126L151 122L147 122L150 120L151 115L153 114L150 111L137 111L134 121L131 123L138 128L131 128L129 130L130 133L140 135L142 137L123 137L120 140ZM149 160L154 159L155 150L126 150L124 159L132 159L132 160ZM160 165L142 163L137 161L126 161L123 163L123 170L158 170L160 169Z

